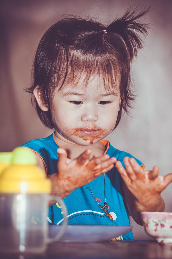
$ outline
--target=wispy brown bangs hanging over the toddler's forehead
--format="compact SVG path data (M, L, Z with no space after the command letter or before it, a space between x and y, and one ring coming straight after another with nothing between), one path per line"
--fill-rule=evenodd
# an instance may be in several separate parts
M94 77L101 79L106 92L113 92L119 86L122 67L117 56L109 54L83 55L81 52L72 50L66 53L61 68L58 64L57 61L54 90L56 88L60 90L69 84L74 88L81 84L86 89L88 82ZM58 78L61 80L58 81Z

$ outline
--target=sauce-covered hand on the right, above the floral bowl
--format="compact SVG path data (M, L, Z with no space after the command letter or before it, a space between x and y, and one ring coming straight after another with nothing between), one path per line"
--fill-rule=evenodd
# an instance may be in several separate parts
M123 161L126 169L120 161L116 162L116 168L136 198L138 211L154 211L158 207L161 192L172 182L172 174L159 176L158 166L144 171L134 158L124 157Z

